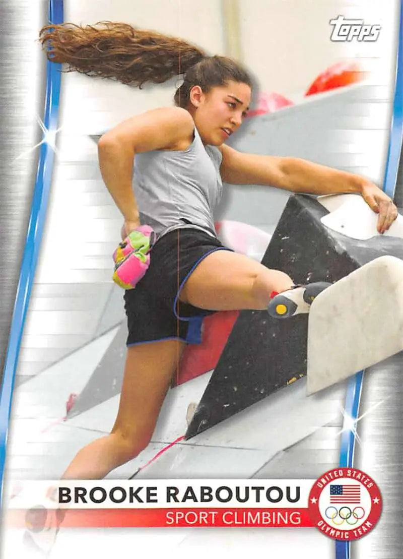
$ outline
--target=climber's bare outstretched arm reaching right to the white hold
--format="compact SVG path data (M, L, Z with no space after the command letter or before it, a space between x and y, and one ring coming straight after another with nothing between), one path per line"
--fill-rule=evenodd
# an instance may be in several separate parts
M222 145L221 177L231 184L264 184L306 194L358 193L379 214L384 233L397 217L392 200L376 184L359 175L305 159L241 153Z

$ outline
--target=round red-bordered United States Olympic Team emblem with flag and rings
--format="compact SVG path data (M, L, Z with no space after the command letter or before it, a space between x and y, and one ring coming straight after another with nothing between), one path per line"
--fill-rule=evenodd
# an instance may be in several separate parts
M314 526L325 536L350 541L374 528L381 515L382 497L366 473L335 468L316 480L308 509Z

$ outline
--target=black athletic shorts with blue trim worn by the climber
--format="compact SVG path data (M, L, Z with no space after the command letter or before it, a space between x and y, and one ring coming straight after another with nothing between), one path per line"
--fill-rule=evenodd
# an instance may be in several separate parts
M167 339L201 343L203 316L215 311L179 301L179 292L197 264L222 249L231 250L195 228L175 229L155 243L145 276L125 291L127 346Z

